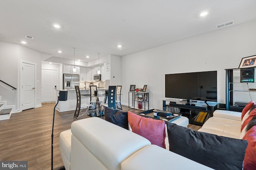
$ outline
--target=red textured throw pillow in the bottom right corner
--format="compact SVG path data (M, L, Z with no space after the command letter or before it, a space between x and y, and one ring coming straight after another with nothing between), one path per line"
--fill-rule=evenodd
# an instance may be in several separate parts
M243 137L248 141L244 156L244 170L256 169L256 126L253 126Z

